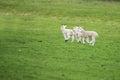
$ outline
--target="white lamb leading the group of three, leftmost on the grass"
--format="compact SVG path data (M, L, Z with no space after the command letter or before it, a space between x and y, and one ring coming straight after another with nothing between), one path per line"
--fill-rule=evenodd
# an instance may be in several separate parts
M65 42L68 41L68 39L72 38L72 41L74 41L74 31L72 29L66 29L66 25L61 25L61 31L63 33Z

